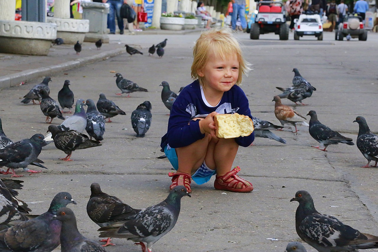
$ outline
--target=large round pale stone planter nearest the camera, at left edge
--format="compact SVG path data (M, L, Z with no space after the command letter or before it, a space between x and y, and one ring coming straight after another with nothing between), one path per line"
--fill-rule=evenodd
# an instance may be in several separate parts
M0 20L0 53L47 55L56 24Z

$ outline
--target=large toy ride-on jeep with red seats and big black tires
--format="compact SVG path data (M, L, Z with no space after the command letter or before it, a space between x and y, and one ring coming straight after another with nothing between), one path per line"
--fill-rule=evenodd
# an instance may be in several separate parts
M251 39L259 39L260 34L279 34L280 40L289 39L289 26L286 23L285 10L282 2L262 1L255 11L255 22L251 25Z

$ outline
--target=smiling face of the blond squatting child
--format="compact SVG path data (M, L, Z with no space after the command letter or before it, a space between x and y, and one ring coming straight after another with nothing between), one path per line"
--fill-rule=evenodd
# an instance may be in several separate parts
M239 60L235 54L223 59L210 55L206 65L198 70L198 75L203 77L205 89L226 92L235 85L239 77Z

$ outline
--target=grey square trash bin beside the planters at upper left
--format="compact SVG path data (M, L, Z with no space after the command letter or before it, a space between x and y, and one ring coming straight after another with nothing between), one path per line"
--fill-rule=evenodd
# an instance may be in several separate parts
M105 34L110 5L108 3L82 3L83 19L89 20L89 32Z

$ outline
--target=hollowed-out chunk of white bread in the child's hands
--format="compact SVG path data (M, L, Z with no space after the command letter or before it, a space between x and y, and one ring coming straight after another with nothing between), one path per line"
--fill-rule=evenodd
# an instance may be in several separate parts
M245 115L215 115L215 135L220 138L246 137L253 132L253 121Z

